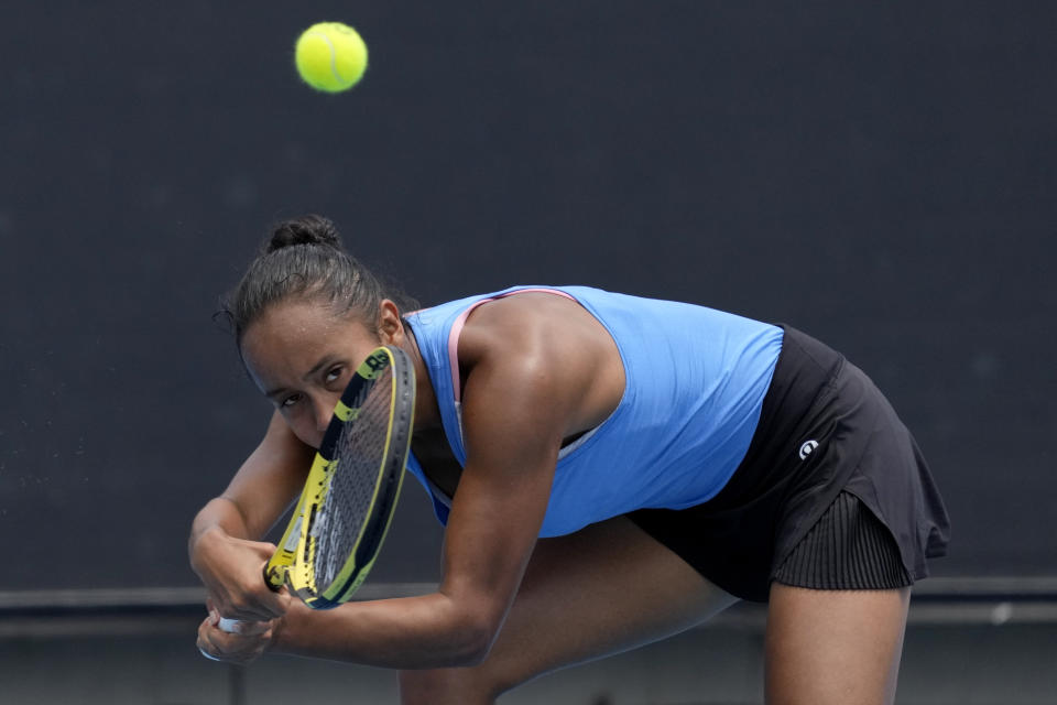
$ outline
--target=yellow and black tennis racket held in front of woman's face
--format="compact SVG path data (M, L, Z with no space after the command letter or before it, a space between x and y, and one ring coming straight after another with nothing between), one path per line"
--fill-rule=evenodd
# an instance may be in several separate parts
M396 347L375 348L334 409L301 499L264 566L314 609L352 597L378 557L396 508L411 444L415 373ZM239 620L221 619L233 631Z

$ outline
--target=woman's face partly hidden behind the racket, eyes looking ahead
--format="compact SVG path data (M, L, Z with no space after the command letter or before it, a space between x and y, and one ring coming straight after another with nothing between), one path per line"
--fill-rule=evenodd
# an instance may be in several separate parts
M380 328L375 335L355 314L336 315L319 303L281 302L247 328L242 357L294 434L319 447L357 366L379 345L400 344L400 316L390 301L382 302Z

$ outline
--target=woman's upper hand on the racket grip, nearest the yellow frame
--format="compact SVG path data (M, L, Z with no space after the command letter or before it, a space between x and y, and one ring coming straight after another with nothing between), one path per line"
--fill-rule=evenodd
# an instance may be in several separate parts
M290 609L285 588L273 592L264 566L275 552L270 543L235 539L215 529L195 543L192 566L209 593L210 609L224 617L268 622Z

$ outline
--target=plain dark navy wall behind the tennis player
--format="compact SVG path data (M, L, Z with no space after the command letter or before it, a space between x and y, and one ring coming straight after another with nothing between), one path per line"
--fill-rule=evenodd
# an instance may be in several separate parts
M1051 4L4 14L0 588L194 583L190 519L269 415L210 315L304 212L426 304L586 283L804 328L929 456L939 573L1053 572ZM350 94L293 73L324 19L370 46ZM435 576L438 535L411 487L375 578Z

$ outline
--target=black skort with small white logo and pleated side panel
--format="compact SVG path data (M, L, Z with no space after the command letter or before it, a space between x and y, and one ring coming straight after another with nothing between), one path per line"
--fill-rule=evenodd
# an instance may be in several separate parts
M859 368L783 329L760 422L726 487L697 507L629 518L742 599L767 601L772 581L883 589L926 577L949 520L914 437Z

